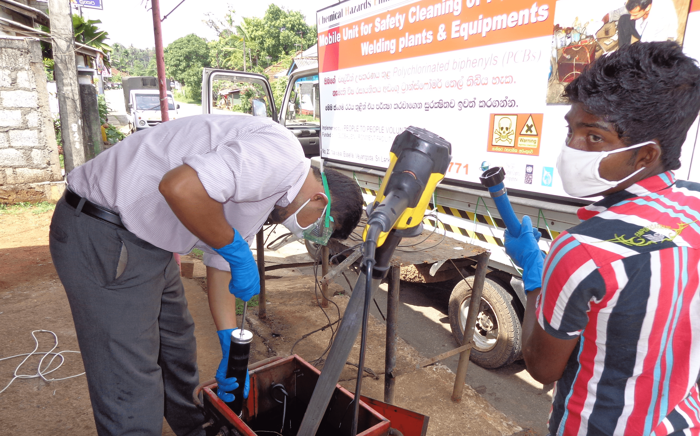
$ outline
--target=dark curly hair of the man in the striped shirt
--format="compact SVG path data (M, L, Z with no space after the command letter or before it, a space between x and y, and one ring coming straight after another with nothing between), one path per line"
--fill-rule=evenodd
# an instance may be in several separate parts
M592 62L562 97L615 125L627 145L657 139L664 171L700 111L700 68L673 41L633 43Z

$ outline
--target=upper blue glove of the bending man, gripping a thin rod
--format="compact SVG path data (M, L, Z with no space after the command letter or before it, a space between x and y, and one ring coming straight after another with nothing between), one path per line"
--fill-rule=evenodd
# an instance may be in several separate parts
M221 248L214 248L231 267L231 281L228 283L230 293L243 301L260 293L260 274L258 264L253 259L251 248L241 237L238 230L233 230L233 242Z

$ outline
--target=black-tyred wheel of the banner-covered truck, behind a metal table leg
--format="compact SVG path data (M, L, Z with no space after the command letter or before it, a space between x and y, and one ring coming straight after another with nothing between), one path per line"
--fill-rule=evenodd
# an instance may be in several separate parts
M449 325L459 344L469 311L474 276L460 281L449 297ZM484 368L500 368L520 356L522 330L510 301L512 296L491 279L484 282L481 310L474 330L470 360Z

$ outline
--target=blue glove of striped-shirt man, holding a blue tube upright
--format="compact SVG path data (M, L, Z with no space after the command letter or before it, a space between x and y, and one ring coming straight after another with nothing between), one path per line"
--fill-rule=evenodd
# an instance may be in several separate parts
M532 227L532 220L524 216L520 225L520 236L515 238L505 230L505 253L523 269L525 293L542 288L542 269L545 267L545 254L537 242L542 234Z

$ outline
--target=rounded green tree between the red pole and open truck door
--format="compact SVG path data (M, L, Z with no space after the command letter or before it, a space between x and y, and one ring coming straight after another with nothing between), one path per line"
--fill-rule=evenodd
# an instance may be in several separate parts
M187 97L201 99L202 68L210 65L207 40L189 34L169 43L164 52L168 76L187 86Z

